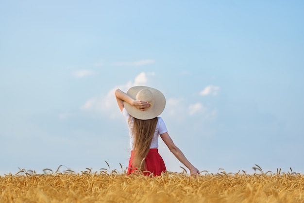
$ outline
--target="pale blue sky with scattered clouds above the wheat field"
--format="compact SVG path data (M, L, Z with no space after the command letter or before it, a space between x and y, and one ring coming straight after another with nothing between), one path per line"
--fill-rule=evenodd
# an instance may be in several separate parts
M300 0L0 0L0 174L120 169L114 90L161 90L200 170L304 172ZM183 166L159 140L167 169Z

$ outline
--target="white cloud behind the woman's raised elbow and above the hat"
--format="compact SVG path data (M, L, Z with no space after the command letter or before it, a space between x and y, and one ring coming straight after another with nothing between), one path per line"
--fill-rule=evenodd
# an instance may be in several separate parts
M118 116L120 116L120 114L115 98L115 90L119 88L122 91L127 91L132 86L147 85L149 81L149 76L153 75L155 74L141 72L135 77L134 82L129 81L124 85L118 85L110 89L105 96L97 96L88 99L81 107L81 109L85 111L107 112L110 115L110 118L117 118Z

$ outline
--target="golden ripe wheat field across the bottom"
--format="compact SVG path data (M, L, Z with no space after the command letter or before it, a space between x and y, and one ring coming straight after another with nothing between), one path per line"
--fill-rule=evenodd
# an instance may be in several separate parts
M58 169L0 176L0 203L304 203L304 176L291 169L264 173L257 166L254 174L219 169L198 177L186 170L149 177L126 170Z

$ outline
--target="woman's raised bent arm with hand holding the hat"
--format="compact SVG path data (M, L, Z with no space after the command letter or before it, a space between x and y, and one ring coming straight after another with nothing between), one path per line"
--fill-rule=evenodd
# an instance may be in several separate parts
M120 111L124 108L123 101L126 101L127 103L130 103L131 105L135 106L136 108L144 111L145 108L149 108L151 104L147 101L142 100L134 100L129 95L121 91L120 89L117 89L115 91L116 100L119 106Z

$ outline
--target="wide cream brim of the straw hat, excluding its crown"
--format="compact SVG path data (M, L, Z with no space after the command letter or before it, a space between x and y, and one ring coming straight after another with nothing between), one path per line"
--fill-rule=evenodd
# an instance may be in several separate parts
M127 95L129 95L132 99L136 100L137 93L142 89L149 89L152 92L153 98L154 98L152 106L149 108L146 108L143 111L124 101L125 109L132 117L141 119L141 120L148 120L148 119L158 117L165 109L165 106L166 106L165 96L159 90L154 89L152 87L148 87L148 86L131 87L127 91Z

